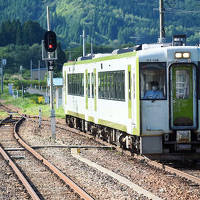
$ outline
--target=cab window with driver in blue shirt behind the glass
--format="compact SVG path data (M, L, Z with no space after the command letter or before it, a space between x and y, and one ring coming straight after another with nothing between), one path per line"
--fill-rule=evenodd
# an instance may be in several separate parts
M140 64L141 99L166 99L165 63Z

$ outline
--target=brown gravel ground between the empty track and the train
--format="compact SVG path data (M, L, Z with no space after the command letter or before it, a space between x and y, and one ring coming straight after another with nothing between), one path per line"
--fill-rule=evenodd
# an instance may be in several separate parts
M57 139L54 143L51 140L49 122L42 122L42 127L38 128L38 123L33 124L28 120L20 128L20 135L33 146L98 145L93 140L59 128L56 128ZM83 186L95 199L148 199L112 177L74 159L69 149L45 148L40 149L39 152L64 173L70 174L71 178ZM160 198L167 200L200 199L199 186L192 186L189 181L154 169L145 161L138 161L110 150L81 150L80 155L127 178Z

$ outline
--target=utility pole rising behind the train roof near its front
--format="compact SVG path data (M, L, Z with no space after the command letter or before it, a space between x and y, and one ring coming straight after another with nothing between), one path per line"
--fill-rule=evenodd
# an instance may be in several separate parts
M159 43L165 41L165 28L164 28L164 3L163 0L159 0L159 13L160 13L160 38Z

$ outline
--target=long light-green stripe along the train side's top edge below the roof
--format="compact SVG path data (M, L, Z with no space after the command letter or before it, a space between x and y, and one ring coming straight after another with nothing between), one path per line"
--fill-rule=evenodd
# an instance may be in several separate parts
M133 57L133 56L136 56L136 54L137 54L136 52L128 52L128 53L123 53L123 54L95 58L95 59L91 59L91 60L83 60L83 61L78 61L78 62L74 61L74 62L65 63L64 67L68 66L68 65L96 63L96 62L101 62L101 61L106 61L106 60L114 60L114 59L120 59L120 58L126 58L126 57Z

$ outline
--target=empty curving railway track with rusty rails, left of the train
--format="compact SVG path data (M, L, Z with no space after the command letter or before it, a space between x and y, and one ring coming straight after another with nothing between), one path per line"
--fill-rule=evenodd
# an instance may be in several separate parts
M16 141L14 141L14 138L12 138L12 136L11 136L12 131L11 130L9 130L9 134L6 134L6 137L5 137L5 130L8 131L8 129L10 127L3 128L4 131L3 131L3 133L1 133L0 143L1 143L1 154L2 154L2 156L10 164L10 166L12 167L12 169L14 170L14 172L16 173L16 175L18 176L20 181L23 183L24 187L26 188L26 190L28 191L30 196L33 199L46 199L45 196L47 198L49 198L51 196L51 199L58 198L58 197L69 198L69 199L77 199L78 197L81 198L81 199L93 199L82 188L80 188L70 178L68 178L64 173L62 173L57 167L55 167L47 159L42 157L33 148L28 146L19 137L17 132L18 132L20 124L23 122L24 119L25 118L21 118L14 125L14 130L15 130L14 137L15 137L16 141L18 141L18 143L20 143L23 146L23 148L25 148L29 153L25 153L24 151L17 151L17 149L19 149L19 145L17 144ZM8 117L5 120L1 121L1 127L3 127L4 125L8 126L9 123L12 124L12 123L14 123L14 121L15 120L13 120L11 117ZM11 125L11 127L12 127L12 125ZM9 156L8 153L6 153L6 151L4 150L5 147L7 149L8 149L8 147L12 147L12 148L14 147L15 148L15 151L14 151L15 155L13 154L13 155ZM9 152L9 154L10 154L10 152ZM34 163L32 164L33 158L31 158L32 160L29 158L28 161L25 161L25 160L27 160L28 157L31 157L30 154L34 155L34 157L39 160L39 163L34 161ZM12 158L14 158L15 161L13 161ZM16 159L18 159L18 160L16 160ZM21 165L21 163L19 161L20 159L22 159L22 162L24 162L24 164ZM45 165L46 167L41 167L41 163L43 165ZM37 166L36 164L40 165L40 166ZM32 169L32 172L30 172L30 170L24 169L24 165L26 167L28 166L29 168L32 168L34 166L34 169ZM21 169L19 169L17 166L20 166L20 168L23 169L23 173L21 172ZM47 170L46 168L48 168L49 170ZM52 186L50 186L51 184L49 184L49 177L52 176L52 173L55 174L56 176L58 176L62 180L62 182L59 180L60 183L58 183L59 186L57 186L57 188L58 188L57 192L53 189L53 187L55 187L55 184L53 184ZM26 175L23 176L23 174L26 174ZM37 174L38 174L38 176L36 176ZM44 174L45 174L45 177L41 178L40 176L42 176ZM56 178L55 175L53 175L54 176L53 179L51 178L52 183L56 182L55 181L55 178ZM34 182L35 182L34 179L36 179L36 178L34 178L34 176L39 178L39 182L36 181L35 184L34 184ZM28 178L28 180L27 180L26 177L31 177L31 178ZM42 185L42 187L40 187L39 185L41 185L41 181L45 181L45 180L46 180L46 183L44 183ZM31 182L31 184L30 184L30 182ZM34 187L32 187L33 184L34 184ZM66 185L67 185L68 188L66 188ZM47 191L47 187L49 187L48 191ZM41 188L45 188L45 189L44 190L42 189L43 191L41 191ZM50 192L49 190L52 190L53 192ZM73 190L74 192L71 192L71 190ZM67 192L65 192L65 191L67 191ZM49 193L49 194L46 195L46 193ZM54 197L52 196L53 195L52 193L55 193ZM73 194L71 194L71 193L73 193ZM61 194L63 195L62 197L60 196Z

